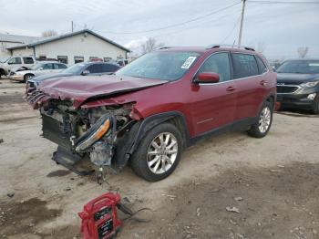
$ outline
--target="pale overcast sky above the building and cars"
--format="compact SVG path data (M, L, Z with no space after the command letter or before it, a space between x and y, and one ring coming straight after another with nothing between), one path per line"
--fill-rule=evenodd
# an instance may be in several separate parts
M270 58L297 57L296 49L306 46L309 57L319 57L319 4L305 3L319 0L269 1L304 3L247 0L242 45L264 47L263 54ZM134 48L149 36L167 46L237 42L242 4L240 0L0 0L0 9L1 33L40 36L55 29L63 34L71 31L73 20L75 30L87 26ZM174 26L186 21L190 22Z

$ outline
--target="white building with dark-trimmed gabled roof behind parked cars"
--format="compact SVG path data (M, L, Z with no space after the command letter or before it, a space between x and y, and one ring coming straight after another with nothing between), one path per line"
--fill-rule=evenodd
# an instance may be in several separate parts
M56 58L68 65L92 58L127 58L129 49L100 36L91 30L81 30L60 36L41 38L24 45L7 47L11 56L34 56Z

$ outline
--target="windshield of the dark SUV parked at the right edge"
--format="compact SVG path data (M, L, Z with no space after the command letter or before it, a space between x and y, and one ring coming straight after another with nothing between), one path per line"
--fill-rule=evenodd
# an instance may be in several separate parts
M278 73L299 73L319 74L319 60L289 60L283 62L276 72Z

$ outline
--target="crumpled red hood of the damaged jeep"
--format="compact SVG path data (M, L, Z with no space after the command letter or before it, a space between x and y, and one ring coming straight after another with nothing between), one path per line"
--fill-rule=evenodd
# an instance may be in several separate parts
M78 108L90 98L114 96L142 88L162 85L168 81L150 78L119 77L103 75L92 77L70 77L48 80L38 88L51 99L71 99Z

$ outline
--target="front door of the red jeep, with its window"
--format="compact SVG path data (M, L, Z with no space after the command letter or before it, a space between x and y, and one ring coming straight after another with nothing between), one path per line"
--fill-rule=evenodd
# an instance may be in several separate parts
M201 72L218 73L220 82L192 86L190 111L196 135L231 124L236 107L236 88L232 81L229 52L213 53L201 65L195 78Z

